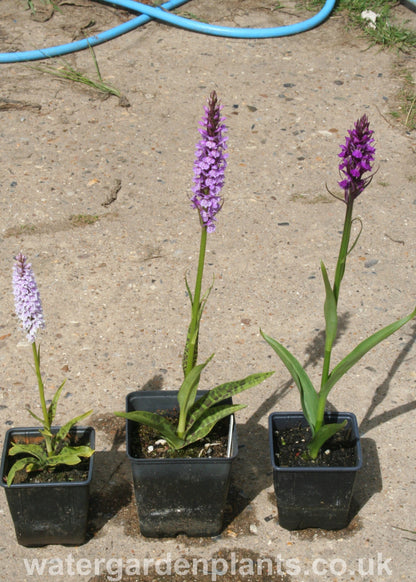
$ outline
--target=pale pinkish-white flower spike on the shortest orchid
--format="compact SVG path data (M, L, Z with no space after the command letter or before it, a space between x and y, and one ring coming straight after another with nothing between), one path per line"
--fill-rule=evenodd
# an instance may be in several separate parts
M22 253L17 255L13 267L13 294L16 314L27 332L27 339L33 343L38 329L45 327L45 321L32 266Z

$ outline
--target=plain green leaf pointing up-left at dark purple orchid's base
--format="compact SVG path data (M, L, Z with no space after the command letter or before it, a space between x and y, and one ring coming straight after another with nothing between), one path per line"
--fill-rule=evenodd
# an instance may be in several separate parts
M283 347L281 343L267 336L261 330L260 333L270 347L274 349L295 381L300 392L303 414L305 415L309 426L312 428L312 431L314 431L317 420L319 397L309 376L300 362L285 347Z

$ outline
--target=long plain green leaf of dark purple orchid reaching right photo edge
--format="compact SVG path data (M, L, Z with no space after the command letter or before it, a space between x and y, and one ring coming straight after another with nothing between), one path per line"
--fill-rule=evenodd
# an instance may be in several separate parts
M326 384L323 386L322 393L324 395L328 395L331 388L342 378L342 376L348 372L350 368L354 366L367 352L369 352L372 348L374 348L377 344L388 338L394 332L398 331L403 325L408 323L416 316L416 309L412 311L406 317L399 319L398 321L383 327L376 333L374 333L369 338L362 341L358 346L352 350L339 364L335 366L335 368L330 373Z

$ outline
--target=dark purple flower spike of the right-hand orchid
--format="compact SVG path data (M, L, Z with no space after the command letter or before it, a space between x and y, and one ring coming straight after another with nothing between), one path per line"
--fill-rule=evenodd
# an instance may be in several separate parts
M374 131L369 128L369 121L363 115L354 129L348 130L349 136L345 138L345 145L341 145L342 158L339 170L345 176L338 184L344 190L344 199L348 203L354 201L371 181L372 176L363 178L365 172L371 171L371 162L374 161L375 148L372 147L374 139L371 137Z

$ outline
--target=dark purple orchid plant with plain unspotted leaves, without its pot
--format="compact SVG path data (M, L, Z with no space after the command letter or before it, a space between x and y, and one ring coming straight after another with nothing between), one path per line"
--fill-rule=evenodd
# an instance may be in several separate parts
M325 348L320 389L315 389L300 362L281 343L261 332L264 339L285 364L299 389L302 410L312 432L312 439L308 444L311 459L317 458L321 446L331 436L340 431L347 422L324 423L325 407L331 389L369 350L388 338L416 315L415 309L406 317L377 331L358 344L332 370L330 369L332 348L337 335L337 307L341 281L344 277L347 257L356 245L361 233L360 231L353 244L350 245L351 225L354 220L354 201L370 184L372 179L372 175L365 176L367 172L371 172L374 161L375 148L372 145L374 143L372 136L373 131L370 130L368 118L366 115L363 115L355 123L354 128L348 131L345 144L341 145L341 153L339 154L341 158L339 171L343 174L344 178L338 184L344 190L343 201L346 204L346 210L333 285L329 281L324 263L321 262L321 271L325 286Z

